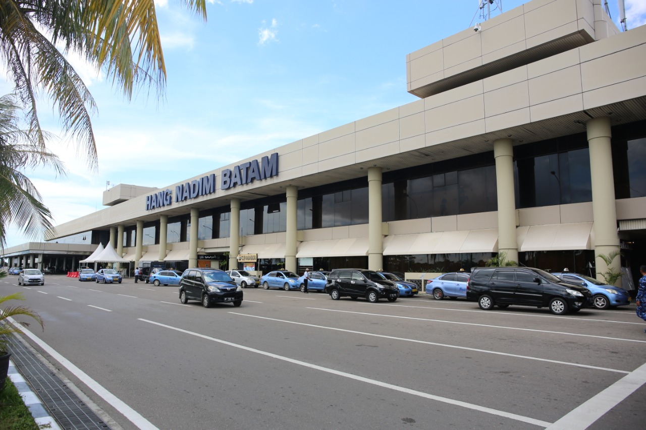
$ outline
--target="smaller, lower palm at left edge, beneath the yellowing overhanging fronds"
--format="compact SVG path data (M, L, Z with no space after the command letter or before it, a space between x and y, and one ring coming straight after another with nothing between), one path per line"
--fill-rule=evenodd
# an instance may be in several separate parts
M16 96L0 97L0 248L8 223L23 226L23 233L33 238L52 228L50 211L22 170L48 166L65 173L58 157L39 145L37 135L47 138L47 132L21 129L21 114Z

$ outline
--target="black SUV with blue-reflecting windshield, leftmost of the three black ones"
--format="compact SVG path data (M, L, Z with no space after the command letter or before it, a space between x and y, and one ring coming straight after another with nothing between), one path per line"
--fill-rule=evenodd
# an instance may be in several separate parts
M199 300L203 307L212 303L242 305L242 287L220 269L188 269L180 279L180 302Z

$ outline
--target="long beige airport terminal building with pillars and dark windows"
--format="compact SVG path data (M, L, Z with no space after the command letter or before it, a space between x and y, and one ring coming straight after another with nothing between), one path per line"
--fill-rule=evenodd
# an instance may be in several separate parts
M598 0L534 0L406 56L419 100L107 207L5 249L76 269L99 243L136 265L430 278L497 252L596 274L646 264L646 26ZM632 274L632 276L630 276Z

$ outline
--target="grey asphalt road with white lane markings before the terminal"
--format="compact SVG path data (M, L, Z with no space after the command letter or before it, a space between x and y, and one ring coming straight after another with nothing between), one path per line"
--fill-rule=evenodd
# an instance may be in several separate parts
M634 305L554 316L261 287L245 289L241 307L205 309L182 305L177 287L62 275L42 287L0 280L0 294L12 292L45 320L30 331L47 345L28 341L126 430L646 422L646 324Z

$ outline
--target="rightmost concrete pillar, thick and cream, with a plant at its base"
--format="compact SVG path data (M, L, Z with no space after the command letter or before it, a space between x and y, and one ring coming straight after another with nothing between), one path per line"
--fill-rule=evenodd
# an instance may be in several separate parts
M597 279L603 281L600 273L608 267L599 254L608 255L620 251L617 234L617 209L614 199L614 177L612 175L612 150L610 146L610 119L593 118L587 123L588 145L590 147L590 172L592 173L592 218L594 220L594 260ZM617 257L612 267L621 271ZM616 282L621 286L621 278Z

